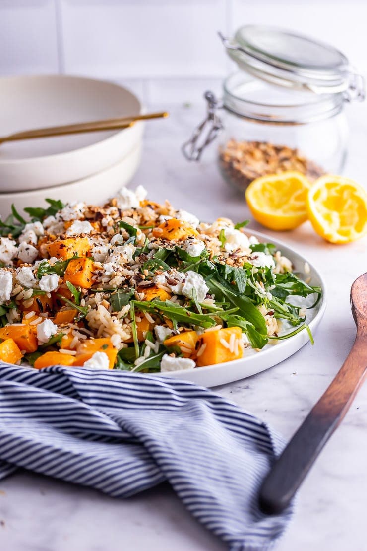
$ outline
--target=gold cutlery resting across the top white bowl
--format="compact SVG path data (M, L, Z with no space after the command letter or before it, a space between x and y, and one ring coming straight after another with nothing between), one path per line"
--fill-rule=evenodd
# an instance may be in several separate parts
M106 118L103 121L79 122L73 125L37 128L35 130L26 130L24 132L17 132L16 134L10 134L10 136L0 137L0 144L23 139L49 138L51 136L65 136L65 134L81 134L84 132L98 132L101 130L117 130L133 126L136 121L166 117L168 117L167 111L160 111L158 113L147 113L146 115L135 115L131 117Z

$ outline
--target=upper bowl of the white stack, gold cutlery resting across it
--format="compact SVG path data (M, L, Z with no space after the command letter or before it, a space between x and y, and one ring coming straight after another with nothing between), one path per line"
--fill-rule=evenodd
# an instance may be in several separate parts
M139 114L140 101L117 84L66 75L0 78L0 135ZM0 192L75 182L124 158L141 141L143 124L0 145Z

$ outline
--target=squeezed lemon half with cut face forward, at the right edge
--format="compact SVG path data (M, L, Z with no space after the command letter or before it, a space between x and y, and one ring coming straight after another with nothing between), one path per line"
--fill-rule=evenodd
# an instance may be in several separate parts
M311 186L307 209L314 230L331 243L367 234L367 192L353 180L326 174Z

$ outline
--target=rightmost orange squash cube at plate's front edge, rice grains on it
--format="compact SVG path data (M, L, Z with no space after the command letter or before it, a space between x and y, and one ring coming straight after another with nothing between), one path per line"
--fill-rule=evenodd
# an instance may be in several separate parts
M239 339L237 345L235 343L236 339ZM227 344L224 345L224 342ZM233 352L231 352L230 349L232 342ZM206 346L204 351L200 354L202 345ZM242 358L242 354L242 330L240 327L227 327L226 329L217 329L217 331L205 331L199 338L196 364L198 364L199 367L221 364L223 361Z

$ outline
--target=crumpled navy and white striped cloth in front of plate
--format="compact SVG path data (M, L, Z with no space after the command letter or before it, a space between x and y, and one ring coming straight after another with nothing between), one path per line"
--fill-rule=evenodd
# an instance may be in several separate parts
M0 363L0 478L24 467L128 498L168 480L232 550L265 550L291 510L266 516L262 478L283 442L190 382L123 371Z

